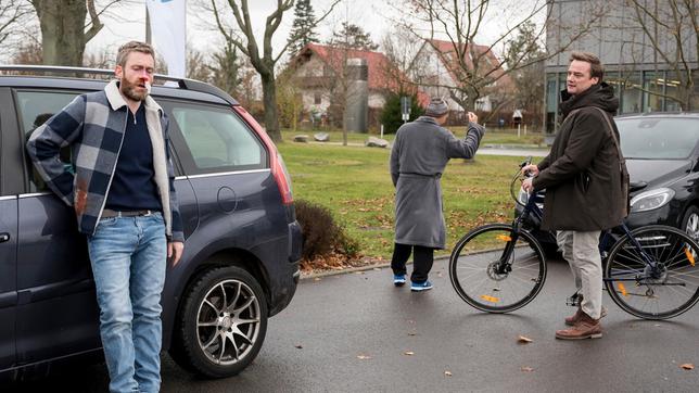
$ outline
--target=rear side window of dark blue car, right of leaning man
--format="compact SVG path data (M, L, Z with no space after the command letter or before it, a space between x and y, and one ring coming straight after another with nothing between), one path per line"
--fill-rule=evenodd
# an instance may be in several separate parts
M171 113L191 153L188 175L267 167L262 142L230 109L176 104Z

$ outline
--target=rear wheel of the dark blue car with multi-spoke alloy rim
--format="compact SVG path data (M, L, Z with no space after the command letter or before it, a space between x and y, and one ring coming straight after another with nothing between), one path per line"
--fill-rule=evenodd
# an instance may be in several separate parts
M236 267L200 276L183 295L170 355L207 378L238 375L257 356L267 332L267 301L257 280Z

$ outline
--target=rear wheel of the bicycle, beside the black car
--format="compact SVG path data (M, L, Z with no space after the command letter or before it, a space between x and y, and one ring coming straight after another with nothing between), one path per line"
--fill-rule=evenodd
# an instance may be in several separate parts
M605 284L625 312L644 319L668 319L699 301L699 245L684 231L668 226L633 230L643 254L658 263L646 264L638 246L620 239L607 259Z

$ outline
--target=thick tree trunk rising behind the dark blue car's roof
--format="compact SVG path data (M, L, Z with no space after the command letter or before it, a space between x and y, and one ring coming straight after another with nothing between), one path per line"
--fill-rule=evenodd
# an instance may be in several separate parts
M82 65L85 52L85 0L34 0L41 25L41 48L46 65Z

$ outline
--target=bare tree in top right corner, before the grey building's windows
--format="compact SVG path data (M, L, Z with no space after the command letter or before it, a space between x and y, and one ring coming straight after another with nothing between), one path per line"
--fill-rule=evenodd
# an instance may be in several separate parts
M626 0L626 4L633 11L631 23L639 26L647 38L643 41L652 53L650 60L657 66L663 64L663 68L670 72L669 76L675 83L665 83L676 88L677 93L641 90L677 102L685 111L696 110L699 106L699 97L695 92L695 71L699 68L699 2Z

